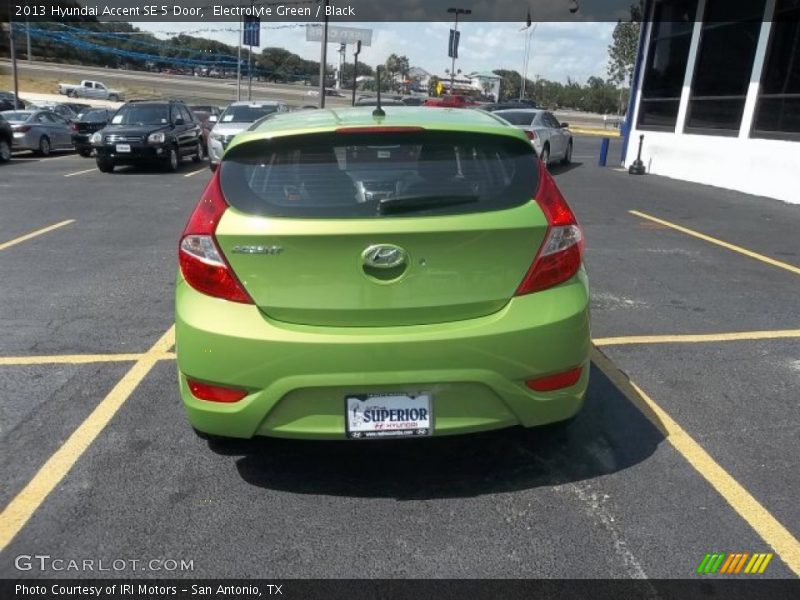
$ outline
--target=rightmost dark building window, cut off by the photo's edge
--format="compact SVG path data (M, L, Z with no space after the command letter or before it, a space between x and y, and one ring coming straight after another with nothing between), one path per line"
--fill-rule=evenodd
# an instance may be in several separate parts
M800 1L778 0L753 137L800 140Z

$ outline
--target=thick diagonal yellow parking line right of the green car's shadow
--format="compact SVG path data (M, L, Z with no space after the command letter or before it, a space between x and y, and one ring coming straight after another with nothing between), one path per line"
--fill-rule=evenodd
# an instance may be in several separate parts
M592 362L664 434L670 445L730 504L731 508L775 550L795 575L800 575L800 542L789 530L723 469L664 409L596 348L592 348Z

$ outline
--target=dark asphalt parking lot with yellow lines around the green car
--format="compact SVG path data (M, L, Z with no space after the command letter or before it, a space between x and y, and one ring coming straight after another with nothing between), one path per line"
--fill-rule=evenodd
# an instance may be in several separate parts
M774 553L730 577L796 576L800 206L601 169L599 144L553 169L593 296L577 421L370 444L187 425L172 293L207 167L0 166L0 577L97 576L15 566L45 554L192 561L103 574L127 577L687 578L718 552Z

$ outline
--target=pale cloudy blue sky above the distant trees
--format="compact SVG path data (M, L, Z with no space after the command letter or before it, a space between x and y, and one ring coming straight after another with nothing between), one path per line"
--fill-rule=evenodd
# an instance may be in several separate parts
M186 32L231 45L238 39L238 23L132 23L158 37ZM277 46L303 58L319 60L318 42L307 42L305 28L294 24L263 24L261 47ZM369 65L382 64L392 54L406 55L411 66L422 67L432 75L444 76L450 68L447 42L450 23L346 23L348 27L372 29L372 45L363 47L359 60ZM606 78L608 45L616 23L542 22L531 38L528 77L566 82L572 78L584 83L591 76ZM461 44L456 69L464 73L515 69L522 71L526 32L524 23L459 23ZM202 31L199 31L202 30ZM529 30L530 31L530 30ZM338 46L328 46L328 64L338 60ZM353 47L348 47L347 61L352 62Z

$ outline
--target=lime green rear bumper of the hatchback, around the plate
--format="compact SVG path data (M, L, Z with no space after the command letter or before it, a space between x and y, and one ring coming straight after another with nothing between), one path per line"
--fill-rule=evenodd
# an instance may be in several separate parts
M191 424L206 433L345 439L345 395L427 391L434 435L568 419L589 376L586 276L512 300L496 314L408 327L314 327L200 294L179 276L176 351ZM534 392L525 380L583 366L580 380ZM250 392L196 399L186 378Z

